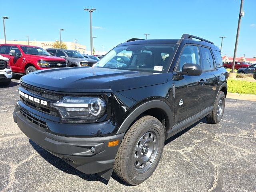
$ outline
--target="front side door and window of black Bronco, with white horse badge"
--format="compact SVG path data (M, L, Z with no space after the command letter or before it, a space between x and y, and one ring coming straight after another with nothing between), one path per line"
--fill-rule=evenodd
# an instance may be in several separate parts
M186 63L200 64L198 46L184 46L175 72L182 71L182 66ZM175 84L175 123L178 124L202 111L206 96L206 75L199 76L182 75Z

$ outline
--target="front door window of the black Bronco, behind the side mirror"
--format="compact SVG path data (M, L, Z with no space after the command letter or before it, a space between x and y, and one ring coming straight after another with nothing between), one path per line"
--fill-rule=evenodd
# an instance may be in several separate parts
M176 71L181 71L182 67L186 63L193 63L200 65L199 62L199 53L198 46L195 45L187 45L180 55L180 59L178 61L178 65Z

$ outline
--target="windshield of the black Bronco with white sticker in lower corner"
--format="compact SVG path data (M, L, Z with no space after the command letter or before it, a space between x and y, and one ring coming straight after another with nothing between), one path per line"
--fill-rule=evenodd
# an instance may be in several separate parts
M118 46L108 52L94 67L168 72L177 47L177 44Z

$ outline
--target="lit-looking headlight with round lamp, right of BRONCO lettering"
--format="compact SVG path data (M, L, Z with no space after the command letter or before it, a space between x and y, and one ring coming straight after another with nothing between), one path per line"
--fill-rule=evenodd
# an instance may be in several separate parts
M76 120L97 120L106 111L106 102L98 97L64 96L56 103L50 103L63 118Z

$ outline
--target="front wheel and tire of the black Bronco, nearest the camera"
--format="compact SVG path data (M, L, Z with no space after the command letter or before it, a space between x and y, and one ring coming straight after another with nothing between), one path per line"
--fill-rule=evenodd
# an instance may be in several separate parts
M114 163L115 174L130 185L138 185L156 169L164 148L161 122L144 116L124 135Z

